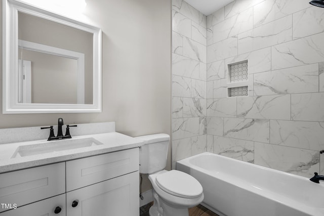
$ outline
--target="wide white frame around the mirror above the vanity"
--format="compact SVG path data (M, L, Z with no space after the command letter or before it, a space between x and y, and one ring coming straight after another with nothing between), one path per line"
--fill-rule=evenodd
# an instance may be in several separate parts
M93 104L18 103L18 11L94 34ZM53 90L55 91L55 90ZM3 1L3 113L101 112L101 29L45 11L19 0Z

